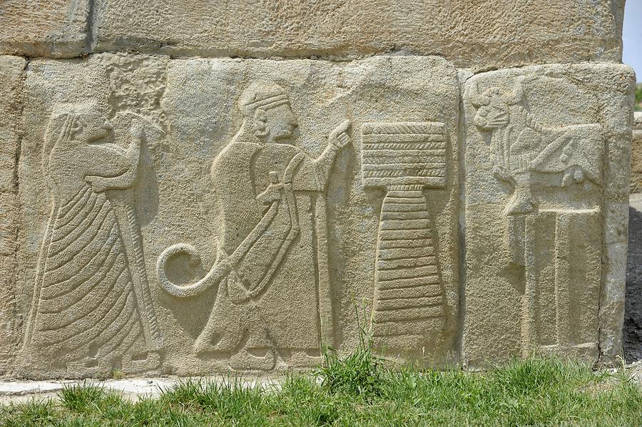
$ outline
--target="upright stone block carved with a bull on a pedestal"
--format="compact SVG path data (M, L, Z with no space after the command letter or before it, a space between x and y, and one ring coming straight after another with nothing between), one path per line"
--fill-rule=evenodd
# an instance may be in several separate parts
M634 81L615 64L466 81L467 364L620 354Z

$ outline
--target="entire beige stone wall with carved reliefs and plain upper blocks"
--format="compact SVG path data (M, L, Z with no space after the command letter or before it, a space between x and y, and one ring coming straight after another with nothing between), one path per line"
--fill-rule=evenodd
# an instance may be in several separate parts
M0 5L0 373L621 353L623 1Z

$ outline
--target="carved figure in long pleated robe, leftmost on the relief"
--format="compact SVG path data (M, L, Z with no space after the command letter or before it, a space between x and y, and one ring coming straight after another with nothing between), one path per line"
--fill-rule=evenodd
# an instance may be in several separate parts
M117 197L108 193L136 183L143 128L136 119L132 123L125 150L114 142L113 126L96 104L58 106L51 115L41 160L51 214L26 357L44 357L61 369L73 366L75 373L109 371L145 361L154 347L144 312L151 303L143 301L148 295L140 289L146 281L141 283L132 259L131 218L119 214Z

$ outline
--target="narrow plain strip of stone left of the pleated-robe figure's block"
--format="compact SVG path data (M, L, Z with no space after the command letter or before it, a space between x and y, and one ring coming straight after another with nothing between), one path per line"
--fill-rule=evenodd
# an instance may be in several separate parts
M23 58L0 56L0 375L9 368L18 341L14 282L19 211L16 160L24 67Z

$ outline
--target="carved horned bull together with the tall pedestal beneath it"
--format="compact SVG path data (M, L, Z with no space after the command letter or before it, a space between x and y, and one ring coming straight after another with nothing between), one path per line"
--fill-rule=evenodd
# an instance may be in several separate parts
M504 214L510 263L523 269L512 276L522 292L521 351L594 357L602 128L546 126L524 108L522 80L511 86L480 92L474 84L468 95L478 108L474 124L491 134L493 175L513 190ZM578 315L591 326L574 325Z

